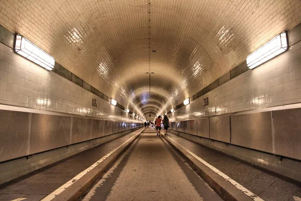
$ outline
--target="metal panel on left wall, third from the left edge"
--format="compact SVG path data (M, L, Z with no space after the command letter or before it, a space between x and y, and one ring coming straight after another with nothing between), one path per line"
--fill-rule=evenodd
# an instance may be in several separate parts
M73 118L71 144L91 139L92 119Z

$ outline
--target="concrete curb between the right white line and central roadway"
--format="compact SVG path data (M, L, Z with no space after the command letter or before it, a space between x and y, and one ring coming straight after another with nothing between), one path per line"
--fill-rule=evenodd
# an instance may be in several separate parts
M187 161L193 170L195 170L214 190L220 194L222 198L227 201L253 201L251 197L237 189L223 177L215 173L212 169L190 155L179 145L173 143L164 135L161 136Z

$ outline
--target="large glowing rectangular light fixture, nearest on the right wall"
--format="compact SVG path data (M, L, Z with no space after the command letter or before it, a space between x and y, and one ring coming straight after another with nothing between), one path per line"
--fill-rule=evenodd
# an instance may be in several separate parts
M247 66L253 69L287 50L286 32L282 32L247 56Z

